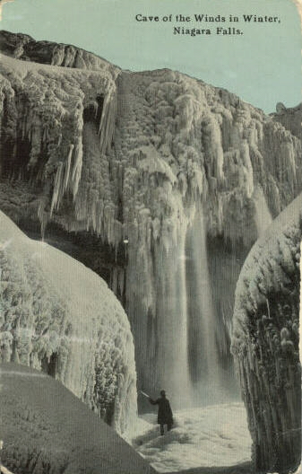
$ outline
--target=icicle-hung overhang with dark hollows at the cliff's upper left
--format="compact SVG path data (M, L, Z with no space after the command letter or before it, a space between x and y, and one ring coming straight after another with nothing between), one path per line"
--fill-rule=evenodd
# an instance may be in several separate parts
M88 115L94 115L95 121L99 120L98 150L105 153L114 132L113 76L106 71L72 70L64 74L65 69L39 68L4 56L2 67L2 177L8 182L24 180L30 184L31 194L38 194L42 230L64 197L66 206L73 203L73 220L83 221L82 227L89 227L91 222L85 218L87 209L82 208L82 201L85 198L95 206L96 198L93 189L86 189L85 185L78 193L83 163L83 117L86 110ZM32 197L30 201L32 208ZM30 203L22 204L29 213ZM37 200L33 206L37 213ZM5 204L3 208L8 210Z

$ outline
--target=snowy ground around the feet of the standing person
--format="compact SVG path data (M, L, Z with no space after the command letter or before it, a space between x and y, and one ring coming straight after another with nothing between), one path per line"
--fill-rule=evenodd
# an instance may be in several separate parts
M252 442L241 403L177 411L174 428L164 436L159 435L156 414L144 415L133 443L159 472L232 466L251 460Z

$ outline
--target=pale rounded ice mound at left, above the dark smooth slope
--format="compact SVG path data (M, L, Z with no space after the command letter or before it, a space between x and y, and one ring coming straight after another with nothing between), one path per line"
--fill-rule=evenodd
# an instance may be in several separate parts
M116 296L89 268L31 241L1 211L0 328L4 362L52 375L119 433L134 421L134 343Z

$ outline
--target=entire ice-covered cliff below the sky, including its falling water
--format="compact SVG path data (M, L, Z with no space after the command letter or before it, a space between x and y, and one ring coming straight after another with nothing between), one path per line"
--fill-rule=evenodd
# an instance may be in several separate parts
M187 400L211 385L212 399L229 380L239 270L301 190L300 138L186 75L2 38L1 208L106 278L140 387Z

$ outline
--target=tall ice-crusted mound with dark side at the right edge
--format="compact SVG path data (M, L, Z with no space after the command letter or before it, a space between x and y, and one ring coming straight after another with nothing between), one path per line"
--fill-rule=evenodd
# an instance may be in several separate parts
M301 461L301 212L300 195L255 243L236 289L232 352L262 472L293 472Z

